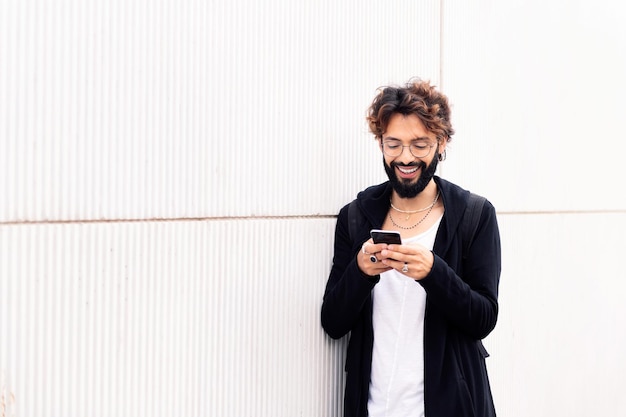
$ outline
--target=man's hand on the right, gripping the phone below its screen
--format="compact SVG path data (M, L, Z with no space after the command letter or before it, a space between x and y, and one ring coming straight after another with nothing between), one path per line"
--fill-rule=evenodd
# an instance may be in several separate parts
M435 261L433 253L419 244L388 245L380 256L383 265L418 281L430 273Z

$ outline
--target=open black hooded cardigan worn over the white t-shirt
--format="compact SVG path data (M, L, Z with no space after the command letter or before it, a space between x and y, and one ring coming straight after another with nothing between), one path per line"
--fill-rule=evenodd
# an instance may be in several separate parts
M460 222L469 192L439 177L435 182L445 207L433 249L430 274L416 285L426 290L424 318L424 407L426 417L492 417L491 397L481 339L495 327L500 279L500 234L496 212L485 202L474 242L462 257ZM332 338L349 332L346 355L344 417L367 416L372 361L371 291L380 276L367 278L356 254L380 228L389 210L391 185L369 187L357 196L365 219L354 241L348 228L348 205L337 218L335 253L322 303L322 326Z

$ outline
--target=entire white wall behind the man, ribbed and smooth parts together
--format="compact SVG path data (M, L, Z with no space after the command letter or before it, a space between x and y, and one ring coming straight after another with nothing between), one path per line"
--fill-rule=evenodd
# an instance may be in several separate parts
M341 415L333 216L414 75L499 210L500 415L619 413L626 14L569 3L1 2L0 415Z

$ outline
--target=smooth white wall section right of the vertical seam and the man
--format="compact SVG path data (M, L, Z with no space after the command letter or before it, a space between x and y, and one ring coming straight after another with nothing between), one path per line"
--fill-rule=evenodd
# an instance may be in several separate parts
M626 7L445 2L443 175L490 198L501 313L485 341L502 416L623 415Z

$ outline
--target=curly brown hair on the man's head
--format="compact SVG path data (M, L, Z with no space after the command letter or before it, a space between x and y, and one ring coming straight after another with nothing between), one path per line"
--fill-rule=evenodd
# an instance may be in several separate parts
M454 134L450 122L448 98L431 86L429 81L409 81L404 87L388 86L379 89L366 117L370 131L382 139L391 116L414 114L426 129L437 135L437 140L449 142Z

